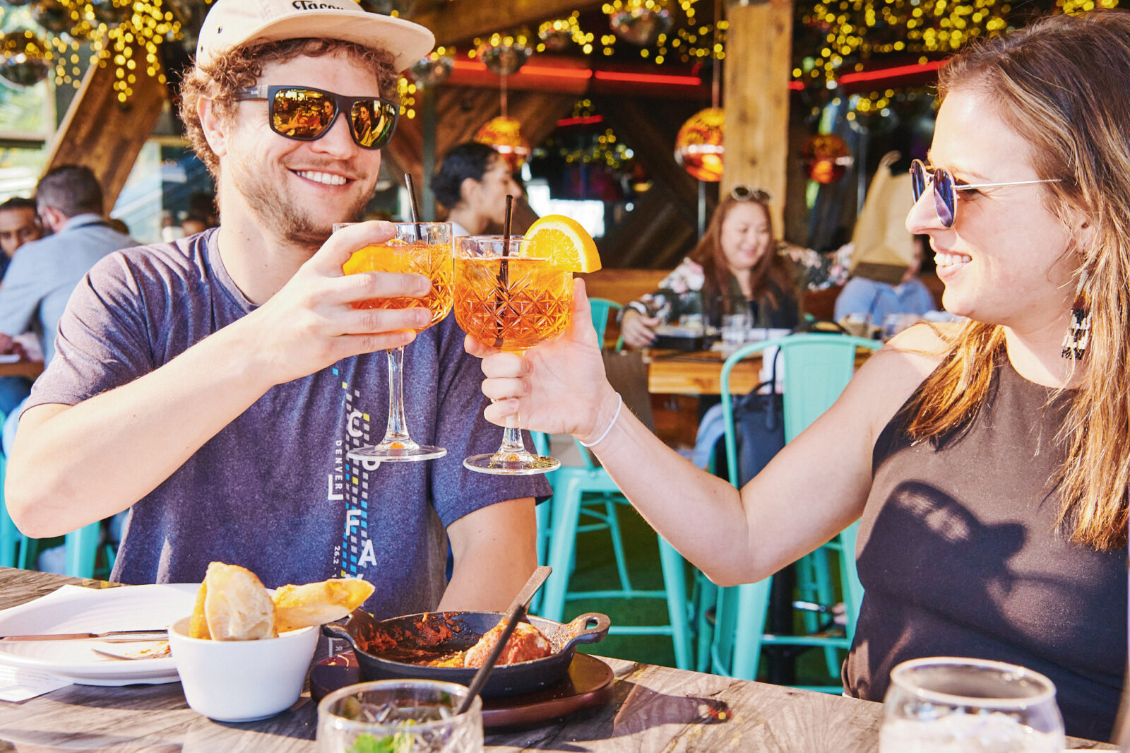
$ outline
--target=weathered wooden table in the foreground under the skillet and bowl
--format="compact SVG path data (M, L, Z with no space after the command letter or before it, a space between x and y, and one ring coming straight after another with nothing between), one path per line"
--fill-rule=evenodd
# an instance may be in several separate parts
M64 583L96 581L0 568L0 608ZM607 659L615 700L539 729L488 734L492 751L873 752L881 706L869 701ZM723 718L724 717L724 718ZM219 724L188 708L180 683L71 685L23 703L0 702L2 751L313 753L316 707L303 695L264 721ZM1115 750L1070 741L1072 747Z

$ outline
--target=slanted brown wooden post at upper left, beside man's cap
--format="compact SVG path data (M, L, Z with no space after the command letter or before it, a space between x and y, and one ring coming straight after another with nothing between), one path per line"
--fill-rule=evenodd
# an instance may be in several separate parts
M140 63L138 68L142 68L145 47L134 45L132 55ZM134 71L134 76L133 94L122 103L114 89L113 61L89 67L55 133L46 165L46 170L86 165L94 171L102 184L107 213L125 185L165 103L164 84L146 76L144 70Z

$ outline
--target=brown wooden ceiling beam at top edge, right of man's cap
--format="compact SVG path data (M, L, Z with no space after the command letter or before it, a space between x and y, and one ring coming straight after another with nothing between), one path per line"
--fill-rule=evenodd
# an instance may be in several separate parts
M452 0L441 10L411 17L435 34L436 44L466 42L492 32L600 8L607 0Z

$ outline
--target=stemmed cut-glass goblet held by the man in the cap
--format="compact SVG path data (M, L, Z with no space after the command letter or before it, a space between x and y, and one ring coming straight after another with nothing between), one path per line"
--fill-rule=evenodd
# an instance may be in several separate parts
M351 223L333 226L337 232ZM355 309L432 310L432 321L415 330L420 332L441 321L451 311L452 249L451 223L393 223L395 235L384 243L366 245L346 261L347 275L366 271L416 272L432 280L431 292L421 298L408 296L371 298L354 303ZM389 348L389 423L379 444L349 452L358 460L399 462L442 458L442 447L419 444L408 434L405 418L405 346Z

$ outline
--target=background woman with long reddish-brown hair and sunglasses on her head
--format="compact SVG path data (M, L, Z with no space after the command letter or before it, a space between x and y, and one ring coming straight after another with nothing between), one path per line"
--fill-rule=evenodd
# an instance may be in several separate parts
M755 327L792 329L800 321L792 263L776 252L765 191L737 187L725 197L690 256L659 284L659 291L624 309L620 331L631 348L655 339L655 327L667 319L692 313L683 294L693 296L699 311L720 324L727 300L746 301Z

